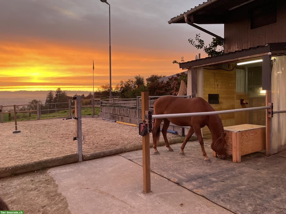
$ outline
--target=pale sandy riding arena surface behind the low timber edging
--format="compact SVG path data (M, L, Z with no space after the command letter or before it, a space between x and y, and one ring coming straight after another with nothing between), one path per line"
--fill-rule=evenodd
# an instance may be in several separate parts
M83 153L142 143L138 127L117 124L101 118L82 118ZM0 124L0 167L29 163L77 152L75 120L60 118L17 122L21 133L13 134L14 122ZM21 124L27 124L22 125ZM178 135L167 133L167 138ZM163 140L161 133L160 140ZM152 134L150 134L150 143Z

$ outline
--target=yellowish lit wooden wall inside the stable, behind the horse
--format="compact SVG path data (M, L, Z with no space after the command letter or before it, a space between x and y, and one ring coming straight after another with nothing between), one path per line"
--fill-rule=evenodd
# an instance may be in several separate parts
M219 94L219 104L211 104L216 111L235 109L235 70L204 68L204 99L206 101L208 94ZM235 113L220 114L219 116L223 126L235 125ZM204 135L210 133L208 127L204 127L202 131Z

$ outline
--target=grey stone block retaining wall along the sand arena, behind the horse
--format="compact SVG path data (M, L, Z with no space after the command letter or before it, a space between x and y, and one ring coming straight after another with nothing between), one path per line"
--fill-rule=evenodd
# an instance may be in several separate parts
M132 123L138 125L142 122L141 120L141 109L139 109L139 120L137 117L137 109L136 108L117 108L117 107L108 107L101 106L100 114L101 118L116 120L125 123ZM163 124L161 124L161 128ZM182 128L170 125L168 130L177 131L179 135L182 136ZM187 134L187 131L185 132Z

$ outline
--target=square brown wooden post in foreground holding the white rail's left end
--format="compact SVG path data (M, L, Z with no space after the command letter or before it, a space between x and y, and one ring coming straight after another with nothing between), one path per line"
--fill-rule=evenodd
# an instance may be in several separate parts
M145 111L149 110L149 93L141 92L142 99L142 120L145 118ZM143 192L151 192L151 173L150 173L150 134L147 133L142 137L143 153Z

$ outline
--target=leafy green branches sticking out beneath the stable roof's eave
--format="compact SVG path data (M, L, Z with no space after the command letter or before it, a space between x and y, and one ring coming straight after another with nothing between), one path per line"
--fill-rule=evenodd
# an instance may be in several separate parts
M203 49L208 56L219 56L223 54L224 51L224 40L221 38L212 38L212 42L208 44L208 46L204 44L202 39L200 39L200 34L196 34L195 41L192 38L188 39L188 41L196 49Z

